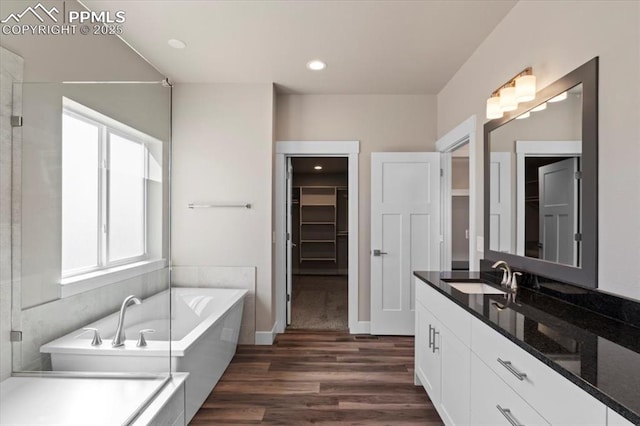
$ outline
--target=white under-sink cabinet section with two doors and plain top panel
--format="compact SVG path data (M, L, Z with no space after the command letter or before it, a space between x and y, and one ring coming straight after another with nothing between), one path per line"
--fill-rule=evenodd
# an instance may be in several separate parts
M415 374L448 425L470 422L470 329L469 314L416 282Z

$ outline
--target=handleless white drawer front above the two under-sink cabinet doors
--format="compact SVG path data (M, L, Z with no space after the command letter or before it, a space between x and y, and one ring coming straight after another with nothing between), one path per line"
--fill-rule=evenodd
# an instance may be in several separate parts
M471 346L471 314L438 293L429 284L415 279L416 300L421 302L438 320L467 347Z

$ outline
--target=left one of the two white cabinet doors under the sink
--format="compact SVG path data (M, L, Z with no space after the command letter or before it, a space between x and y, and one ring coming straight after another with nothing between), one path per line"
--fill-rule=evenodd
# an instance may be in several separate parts
M431 329L429 328L431 327ZM416 303L416 359L415 368L422 386L434 406L440 403L440 352L434 352L433 329L439 327L434 316L420 302ZM439 342L438 342L439 344Z

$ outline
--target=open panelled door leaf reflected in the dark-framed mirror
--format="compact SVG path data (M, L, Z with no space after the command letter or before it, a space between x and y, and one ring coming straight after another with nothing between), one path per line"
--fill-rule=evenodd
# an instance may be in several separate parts
M540 258L578 266L578 185L575 157L538 168Z

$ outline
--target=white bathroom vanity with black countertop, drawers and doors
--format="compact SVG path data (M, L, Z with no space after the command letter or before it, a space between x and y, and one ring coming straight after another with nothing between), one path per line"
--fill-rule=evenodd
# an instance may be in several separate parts
M490 273L414 275L416 384L445 424L640 424L640 329L558 296L594 292L553 283L513 294ZM495 292L452 286L476 281Z

